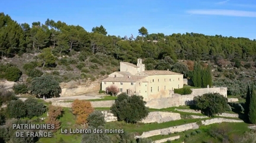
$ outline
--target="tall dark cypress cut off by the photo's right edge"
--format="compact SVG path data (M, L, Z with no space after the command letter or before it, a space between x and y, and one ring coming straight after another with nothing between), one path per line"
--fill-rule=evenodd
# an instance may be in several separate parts
M251 98L251 100L250 100L250 103L249 103L248 118L249 118L249 121L252 124L256 124L256 93L255 93L253 85L251 87L251 96L250 96L250 98Z

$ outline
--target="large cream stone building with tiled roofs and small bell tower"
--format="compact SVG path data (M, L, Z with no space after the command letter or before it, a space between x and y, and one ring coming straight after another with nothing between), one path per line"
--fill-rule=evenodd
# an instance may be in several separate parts
M108 75L101 82L102 89L107 90L111 85L119 89L119 93L143 96L145 101L168 98L174 89L183 87L183 74L169 70L145 70L142 59L137 59L137 65L120 62L120 71Z

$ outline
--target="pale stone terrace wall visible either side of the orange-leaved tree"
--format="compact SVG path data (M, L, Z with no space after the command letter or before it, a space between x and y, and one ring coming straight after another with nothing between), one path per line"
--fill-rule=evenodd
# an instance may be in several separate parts
M73 102L52 102L52 105L71 108L72 103ZM91 105L93 108L110 108L113 104L114 104L114 100L91 101Z

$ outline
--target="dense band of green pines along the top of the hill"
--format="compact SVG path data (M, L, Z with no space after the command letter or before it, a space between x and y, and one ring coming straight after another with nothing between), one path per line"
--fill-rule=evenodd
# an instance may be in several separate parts
M12 57L33 50L51 47L56 54L103 53L117 60L136 63L137 57L162 59L211 60L225 58L229 61L254 60L256 41L249 38L208 36L196 33L164 35L149 34L145 27L139 29L140 36L130 38L107 35L101 25L86 31L79 25L68 25L62 21L47 19L44 24L18 24L9 15L0 14L1 57Z

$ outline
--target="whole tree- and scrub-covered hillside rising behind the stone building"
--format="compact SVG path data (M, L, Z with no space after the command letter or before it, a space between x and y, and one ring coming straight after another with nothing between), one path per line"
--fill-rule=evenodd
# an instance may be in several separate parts
M73 79L70 79L73 74L65 74L62 81L68 82L68 79L104 76L117 71L119 61L136 63L139 57L147 70L171 69L189 78L194 61L204 61L214 70L213 85L229 86L231 95L244 94L243 83L255 79L255 40L196 33L149 34L145 27L138 29L137 37L120 37L107 35L103 25L86 31L79 25L52 19L18 24L9 15L0 13L1 63L14 63L12 66L18 66L27 75L33 73L25 70L24 63L44 71L57 69L56 75L60 70L79 74ZM1 72L5 72L3 68Z

